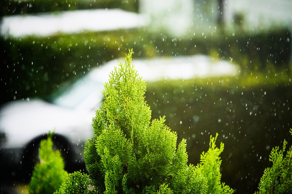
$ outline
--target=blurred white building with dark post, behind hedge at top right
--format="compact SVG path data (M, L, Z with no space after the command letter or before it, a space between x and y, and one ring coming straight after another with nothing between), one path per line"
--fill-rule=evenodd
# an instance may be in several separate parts
M140 0L140 13L150 18L154 31L166 30L178 36L214 31L219 17L231 31L238 25L245 31L274 26L292 31L291 0Z

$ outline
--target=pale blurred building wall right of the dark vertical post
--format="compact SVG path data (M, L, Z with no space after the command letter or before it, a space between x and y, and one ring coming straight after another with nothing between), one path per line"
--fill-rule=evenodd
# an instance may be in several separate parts
M274 26L286 26L292 31L291 0L225 0L225 24L237 25L234 16L242 17L242 27L247 31L265 30Z

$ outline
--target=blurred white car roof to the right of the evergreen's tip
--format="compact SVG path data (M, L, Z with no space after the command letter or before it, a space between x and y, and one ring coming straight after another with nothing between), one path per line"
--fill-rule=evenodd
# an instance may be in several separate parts
M239 72L237 65L224 60L213 60L205 55L132 60L132 64L146 81L233 76Z

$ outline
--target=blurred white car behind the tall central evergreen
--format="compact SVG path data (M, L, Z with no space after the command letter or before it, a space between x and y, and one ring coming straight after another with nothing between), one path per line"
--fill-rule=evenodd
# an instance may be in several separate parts
M51 103L27 98L2 105L2 168L16 166L30 173L38 159L39 142L47 137L48 131L54 131L54 146L62 152L67 167L84 163L84 143L93 137L91 122L103 100L103 84L119 61L124 59L112 60L91 70L60 95L53 95ZM202 55L132 60L132 64L145 81L235 75L239 72L236 65Z

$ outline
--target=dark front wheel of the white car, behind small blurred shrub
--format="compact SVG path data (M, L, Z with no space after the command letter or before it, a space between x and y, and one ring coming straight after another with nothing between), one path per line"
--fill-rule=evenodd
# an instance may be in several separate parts
M32 140L24 149L23 161L21 162L22 174L24 179L30 179L34 166L40 162L39 160L39 148L40 142L43 139L47 139L47 135L42 135ZM66 138L54 134L53 150L60 150L62 158L64 160L65 168L69 168L70 159L72 156L71 149Z

